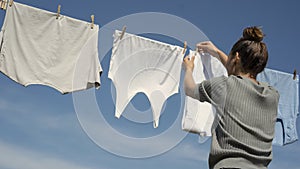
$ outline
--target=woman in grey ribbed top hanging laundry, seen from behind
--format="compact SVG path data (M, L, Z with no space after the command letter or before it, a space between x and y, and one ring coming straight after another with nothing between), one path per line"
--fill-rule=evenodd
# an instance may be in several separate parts
M200 52L218 57L228 77L221 76L195 84L195 57L184 59L185 93L216 107L218 118L212 131L209 168L267 168L272 160L272 140L279 94L256 80L268 60L264 34L248 27L232 47L229 56L211 42L197 45Z

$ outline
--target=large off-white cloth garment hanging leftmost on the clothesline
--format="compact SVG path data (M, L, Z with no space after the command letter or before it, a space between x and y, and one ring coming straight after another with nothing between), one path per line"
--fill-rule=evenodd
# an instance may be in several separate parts
M14 2L1 30L0 71L23 86L41 84L63 94L99 87L98 27Z

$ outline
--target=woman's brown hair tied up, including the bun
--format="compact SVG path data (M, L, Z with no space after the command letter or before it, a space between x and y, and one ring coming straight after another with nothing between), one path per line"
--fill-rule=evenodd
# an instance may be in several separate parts
M259 27L247 27L240 38L232 47L231 53L239 53L244 73L256 77L264 70L268 61L268 50L264 42L264 34Z

